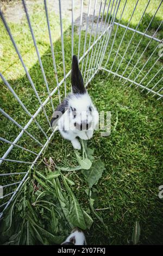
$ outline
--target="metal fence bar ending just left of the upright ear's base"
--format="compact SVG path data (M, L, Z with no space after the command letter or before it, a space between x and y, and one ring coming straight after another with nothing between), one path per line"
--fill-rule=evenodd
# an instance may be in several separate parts
M62 60L64 68L64 84L65 84L65 97L66 93L66 70L65 70L65 50L64 50L64 34L62 29L62 13L61 13L61 0L59 0L59 17L60 17L60 33L61 33L61 46L62 46Z

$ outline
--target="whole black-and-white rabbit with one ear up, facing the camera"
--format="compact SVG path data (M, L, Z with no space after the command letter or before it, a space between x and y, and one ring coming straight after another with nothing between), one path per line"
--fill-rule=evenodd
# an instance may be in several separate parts
M85 140L92 138L99 114L84 86L75 55L72 58L71 84L72 93L55 109L51 126L57 124L62 137L71 141L74 149L81 149L77 137Z

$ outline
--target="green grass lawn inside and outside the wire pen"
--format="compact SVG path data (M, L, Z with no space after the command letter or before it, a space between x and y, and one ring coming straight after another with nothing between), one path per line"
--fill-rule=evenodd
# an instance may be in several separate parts
M136 1L134 1L136 2ZM157 3L159 1L156 1ZM124 1L122 1L122 4ZM140 4L147 3L147 1L141 1ZM122 6L120 10L122 10ZM144 5L143 5L144 6ZM140 31L143 31L143 27L147 26L153 15L154 1L149 6L149 11L143 19ZM38 7L35 7L38 10ZM52 91L56 86L53 62L51 57L51 49L48 42L47 27L45 21L45 14L43 16L43 6L41 5L40 13L33 13L32 22L34 26L34 33L36 34L37 45L41 53L42 64L45 69L49 88ZM161 10L152 26L149 28L149 34L152 35L155 29L159 26L161 21ZM57 21L57 25L53 29L51 23L51 29L53 31L53 41L55 58L57 62L59 81L63 77L62 70L62 56L61 56L61 41L58 36L59 34L59 20L58 16L53 15L52 11L49 11L50 19L53 23ZM131 14L131 6L128 4L126 14L122 19L123 24L127 25L127 20ZM119 17L119 16L118 16ZM132 27L136 27L137 21L140 17L134 16L131 22ZM21 24L9 23L11 31L15 35L15 40L21 50L24 61L29 69L30 76L36 86L36 89L40 95L42 101L48 96L39 63L33 43L30 37L30 32L27 26L26 19L22 20ZM37 25L37 26L36 26ZM3 43L3 57L0 60L2 66L3 75L9 81L12 88L18 94L20 99L29 109L30 113L34 114L36 109L39 107L39 103L33 93L28 78L24 75L24 71L21 64L18 62L16 53L11 46L11 42L5 32L2 23L1 27L1 38ZM76 28L75 28L76 29ZM71 28L67 21L64 21L64 44L65 44L65 63L66 72L71 68ZM114 39L114 32L110 39L110 45L106 52L104 62L108 57L111 42ZM118 28L115 45L110 56L110 62L108 63L107 69L110 69L112 61L115 58L115 54L120 44L122 35L124 33L123 28ZM84 35L82 32L81 39L81 53L84 47ZM123 44L117 56L117 62L113 71L116 71L118 64L120 63L121 56L123 56L126 50L127 44L133 35L133 32L127 32L124 37ZM159 39L162 38L162 29L157 33ZM88 36L89 38L89 36ZM134 36L134 40L130 45L126 57L123 60L119 74L122 74L126 67L126 63L129 62L132 53L135 50L135 46L141 39L140 35ZM92 37L93 41L93 37ZM26 42L26 44L24 44ZM131 61L125 76L130 74L137 59L142 53L143 49L148 44L149 39L143 38L140 47L135 53L135 58ZM88 44L88 39L87 39ZM139 72L145 64L146 60L152 54L156 42L152 41L145 54L143 54L137 69L134 70L131 79L134 79L137 72ZM78 35L74 35L74 53L77 54L78 49ZM146 65L145 69L141 72L138 80L145 76L146 72L158 58L158 52L155 52L151 61ZM10 61L8 61L10 60ZM146 86L148 81L156 74L156 72L162 66L162 59L156 63L149 76L143 81L143 85ZM153 84L159 81L161 78L161 72L153 80ZM108 230L103 228L103 224L93 215L89 207L89 200L85 192L87 185L84 177L80 170L72 173L68 173L68 178L74 181L75 185L72 186L72 190L81 205L81 207L87 211L93 218L93 224L90 230L85 231L86 240L88 244L110 244L110 245L126 245L131 241L133 233L133 226L136 221L139 221L141 227L140 244L161 244L163 234L162 214L163 204L162 200L159 199L159 186L163 183L162 173L162 102L156 101L155 97L151 94L146 95L147 92L140 93L141 89L135 89L135 85L129 87L130 83L127 82L123 86L124 81L119 81L118 77L113 77L107 73L99 71L98 74L93 78L87 90L92 97L93 102L98 108L98 111L111 111L111 134L108 137L101 137L99 131L95 132L93 138L88 142L90 148L95 149L95 157L101 157L104 162L105 170L102 178L99 179L98 184L94 185L94 208L97 210L97 214L103 218L105 225ZM153 86L151 85L151 87ZM160 84L161 86L161 84ZM26 125L30 117L22 111L21 106L11 95L7 87L0 83L1 87L1 106L2 108L11 115L18 123L22 126ZM71 84L70 78L67 79L67 91L70 92ZM159 89L160 87L158 87ZM61 98L64 99L64 84L60 88ZM53 96L54 106L58 105L58 95ZM46 111L49 118L52 115L52 108L50 103L46 105ZM115 131L113 131L118 117L118 123ZM14 141L20 129L13 125L10 121L0 116L0 130L1 136ZM39 124L42 125L45 131L48 130L47 121L42 112L36 118ZM29 126L29 132L32 133L39 141L44 144L46 138L43 137L42 133L36 127L35 124ZM51 134L50 131L47 132ZM27 135L23 135L19 145L27 147L30 150L39 153L40 147L37 143L33 142L32 139ZM7 144L1 143L0 149L1 155L8 149ZM49 161L49 157L52 157L55 164L58 166L74 167L77 165L76 157L70 142L62 139L60 134L56 132L52 141L49 143L49 147L46 149L45 154L41 157L39 164L36 166L36 170L41 173L45 173L45 157L46 161ZM10 159L19 159L23 161L33 161L34 157L32 154L23 153L22 150L14 148L9 154ZM27 171L28 165L17 164L17 163L3 163L0 167L1 172L21 172ZM9 184L14 181L20 181L21 175L10 176L10 178L2 178L0 184ZM30 184L32 182L30 181ZM28 190L28 188L26 188ZM10 192L7 188L5 192ZM26 192L27 193L27 192ZM34 192L33 192L34 193ZM2 199L1 199L2 200ZM7 200L7 198L5 198ZM4 202L5 202L4 200ZM30 203L33 203L33 197L30 198ZM48 210L47 210L48 212ZM43 221L46 220L46 214L42 217ZM40 214L40 213L39 213ZM42 215L39 215L42 216ZM65 224L66 231L57 229L54 234L67 235L71 231L71 227ZM51 230L53 232L53 230ZM58 233L57 233L58 232ZM60 233L59 233L60 232ZM64 233L65 232L65 233ZM98 236L97 236L98 234Z

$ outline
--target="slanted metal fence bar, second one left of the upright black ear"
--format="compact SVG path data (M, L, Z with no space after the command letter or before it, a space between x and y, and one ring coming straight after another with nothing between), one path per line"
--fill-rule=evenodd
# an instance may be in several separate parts
M46 19L47 19L49 40L50 40L50 43L51 43L51 52L52 52L52 59L53 59L53 66L54 66L54 74L55 74L55 80L56 80L56 82L57 82L58 97L59 97L59 103L60 103L61 100L60 100L60 89L59 89L59 82L58 82L57 66L56 66L56 63L55 63L55 56L54 56L54 49L53 49L53 41L52 41L52 35L51 35L51 27L50 27L50 24L49 24L49 17L48 17L48 9L47 9L46 0L44 0L44 5L45 5L45 12L46 12Z

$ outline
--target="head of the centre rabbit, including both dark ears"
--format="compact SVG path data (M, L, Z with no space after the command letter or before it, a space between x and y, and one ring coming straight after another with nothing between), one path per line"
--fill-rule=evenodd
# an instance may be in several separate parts
M90 96L84 87L83 77L79 70L78 59L74 55L72 58L71 70L72 92L53 113L51 125L54 126L60 115L67 110L69 113L69 121L71 130L91 130L93 124L93 112L96 111ZM60 114L58 113L60 112Z

